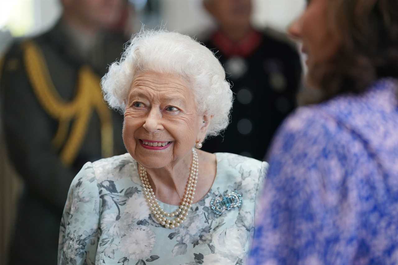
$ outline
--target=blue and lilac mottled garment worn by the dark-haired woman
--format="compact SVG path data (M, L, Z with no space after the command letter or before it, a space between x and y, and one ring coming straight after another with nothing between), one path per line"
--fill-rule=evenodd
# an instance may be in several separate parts
M398 264L397 80L283 124L249 264Z

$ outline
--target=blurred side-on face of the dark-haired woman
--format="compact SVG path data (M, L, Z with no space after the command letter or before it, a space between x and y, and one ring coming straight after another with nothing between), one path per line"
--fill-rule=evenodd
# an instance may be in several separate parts
M307 0L306 10L289 27L289 33L302 41L309 71L333 58L338 51L339 39L331 26L329 1Z

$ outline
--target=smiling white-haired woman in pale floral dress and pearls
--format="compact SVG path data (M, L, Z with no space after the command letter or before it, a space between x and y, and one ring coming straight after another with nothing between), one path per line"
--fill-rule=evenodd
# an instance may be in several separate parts
M128 153L76 175L59 264L242 264L267 164L199 150L232 105L217 58L188 36L142 31L102 87L124 113Z

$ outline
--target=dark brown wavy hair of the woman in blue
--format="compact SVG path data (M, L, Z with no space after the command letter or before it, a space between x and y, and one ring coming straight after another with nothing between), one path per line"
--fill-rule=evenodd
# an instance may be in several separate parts
M331 60L310 70L308 80L322 95L304 103L359 94L380 78L398 78L398 0L329 0L328 9L341 43Z

